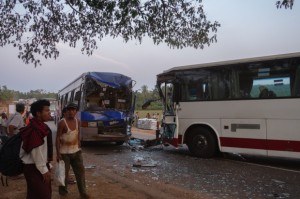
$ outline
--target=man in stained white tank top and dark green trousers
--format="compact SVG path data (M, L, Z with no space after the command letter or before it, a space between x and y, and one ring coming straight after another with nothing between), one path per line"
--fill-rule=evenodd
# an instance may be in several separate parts
M57 161L63 160L66 167L65 186L59 186L59 194L66 195L68 193L67 180L70 166L72 166L81 198L89 198L89 195L86 193L85 171L80 149L80 122L75 118L76 113L77 105L69 103L66 106L65 117L59 121L57 126Z

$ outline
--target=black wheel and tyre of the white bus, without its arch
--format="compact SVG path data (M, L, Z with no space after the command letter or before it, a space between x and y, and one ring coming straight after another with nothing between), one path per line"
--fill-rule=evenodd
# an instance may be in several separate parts
M192 129L187 145L194 156L201 158L213 157L217 149L216 139L213 134L203 127Z

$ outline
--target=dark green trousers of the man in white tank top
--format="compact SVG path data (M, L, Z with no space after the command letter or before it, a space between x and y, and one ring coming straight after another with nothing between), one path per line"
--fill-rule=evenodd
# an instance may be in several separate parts
M59 194L65 195L68 193L68 177L70 166L72 166L73 172L75 174L78 191L80 194L86 194L85 186L85 171L83 166L82 152L78 151L72 154L61 154L63 161L65 162L66 167L66 178L65 185L59 186Z

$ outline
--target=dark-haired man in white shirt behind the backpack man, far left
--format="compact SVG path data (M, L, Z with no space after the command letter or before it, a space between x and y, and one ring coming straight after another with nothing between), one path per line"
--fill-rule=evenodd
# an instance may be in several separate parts
M8 118L8 136L13 136L20 131L20 128L25 126L22 114L25 111L25 105L22 103L16 104L16 113Z

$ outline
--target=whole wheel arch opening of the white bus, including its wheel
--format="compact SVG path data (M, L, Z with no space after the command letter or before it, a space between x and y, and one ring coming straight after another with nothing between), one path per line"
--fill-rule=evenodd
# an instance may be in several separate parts
M184 142L196 157L212 158L219 152L215 131L208 125L190 126L185 133Z

